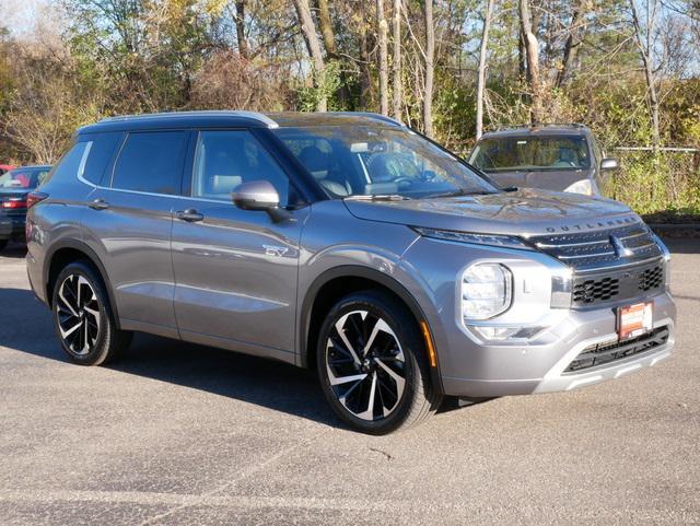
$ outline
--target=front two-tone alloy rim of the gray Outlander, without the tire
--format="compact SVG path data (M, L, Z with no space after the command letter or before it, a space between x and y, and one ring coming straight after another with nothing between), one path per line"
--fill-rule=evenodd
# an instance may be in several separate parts
M388 417L406 387L406 358L398 338L368 311L343 314L326 342L326 371L338 401L366 421Z

